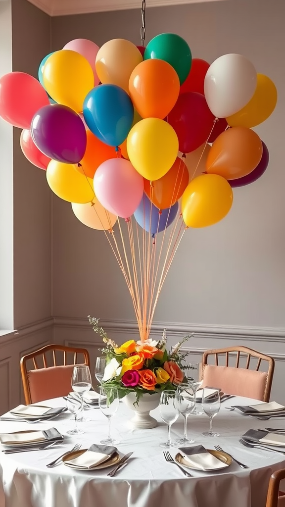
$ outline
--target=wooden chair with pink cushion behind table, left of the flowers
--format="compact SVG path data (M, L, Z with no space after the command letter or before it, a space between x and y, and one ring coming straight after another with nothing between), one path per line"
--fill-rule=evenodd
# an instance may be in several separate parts
M62 356L62 352L63 359L59 363L59 356ZM70 354L73 356L72 364L67 362L67 356L69 357ZM83 360L78 361L78 355L81 355ZM30 369L28 369L27 363L31 363ZM86 349L46 345L24 355L20 360L20 368L25 403L38 403L66 396L72 390L71 379L76 364L90 367L89 353Z

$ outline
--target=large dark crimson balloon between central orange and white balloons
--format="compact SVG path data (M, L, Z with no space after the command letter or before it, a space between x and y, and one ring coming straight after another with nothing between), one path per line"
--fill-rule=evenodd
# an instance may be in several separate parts
M197 150L208 139L214 120L204 95L196 92L182 93L167 117L182 153Z

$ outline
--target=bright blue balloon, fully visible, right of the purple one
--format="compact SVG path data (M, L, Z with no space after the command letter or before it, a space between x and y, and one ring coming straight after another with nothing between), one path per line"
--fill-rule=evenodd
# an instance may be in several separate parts
M133 105L128 94L119 86L99 85L86 96L83 116L98 139L110 146L119 146L131 129Z

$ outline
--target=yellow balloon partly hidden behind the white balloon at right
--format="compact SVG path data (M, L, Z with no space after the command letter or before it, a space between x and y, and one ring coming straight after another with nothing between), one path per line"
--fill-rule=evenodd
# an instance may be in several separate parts
M257 87L252 99L226 120L231 127L256 127L269 118L276 103L277 90L273 81L263 74L258 74Z

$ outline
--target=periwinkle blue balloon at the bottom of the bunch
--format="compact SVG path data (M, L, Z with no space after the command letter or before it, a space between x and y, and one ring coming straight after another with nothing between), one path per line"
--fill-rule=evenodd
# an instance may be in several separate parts
M142 196L138 208L134 212L134 218L138 225L151 234L162 232L172 224L178 211L179 204L175 202L170 208L159 209L151 203L146 194Z

